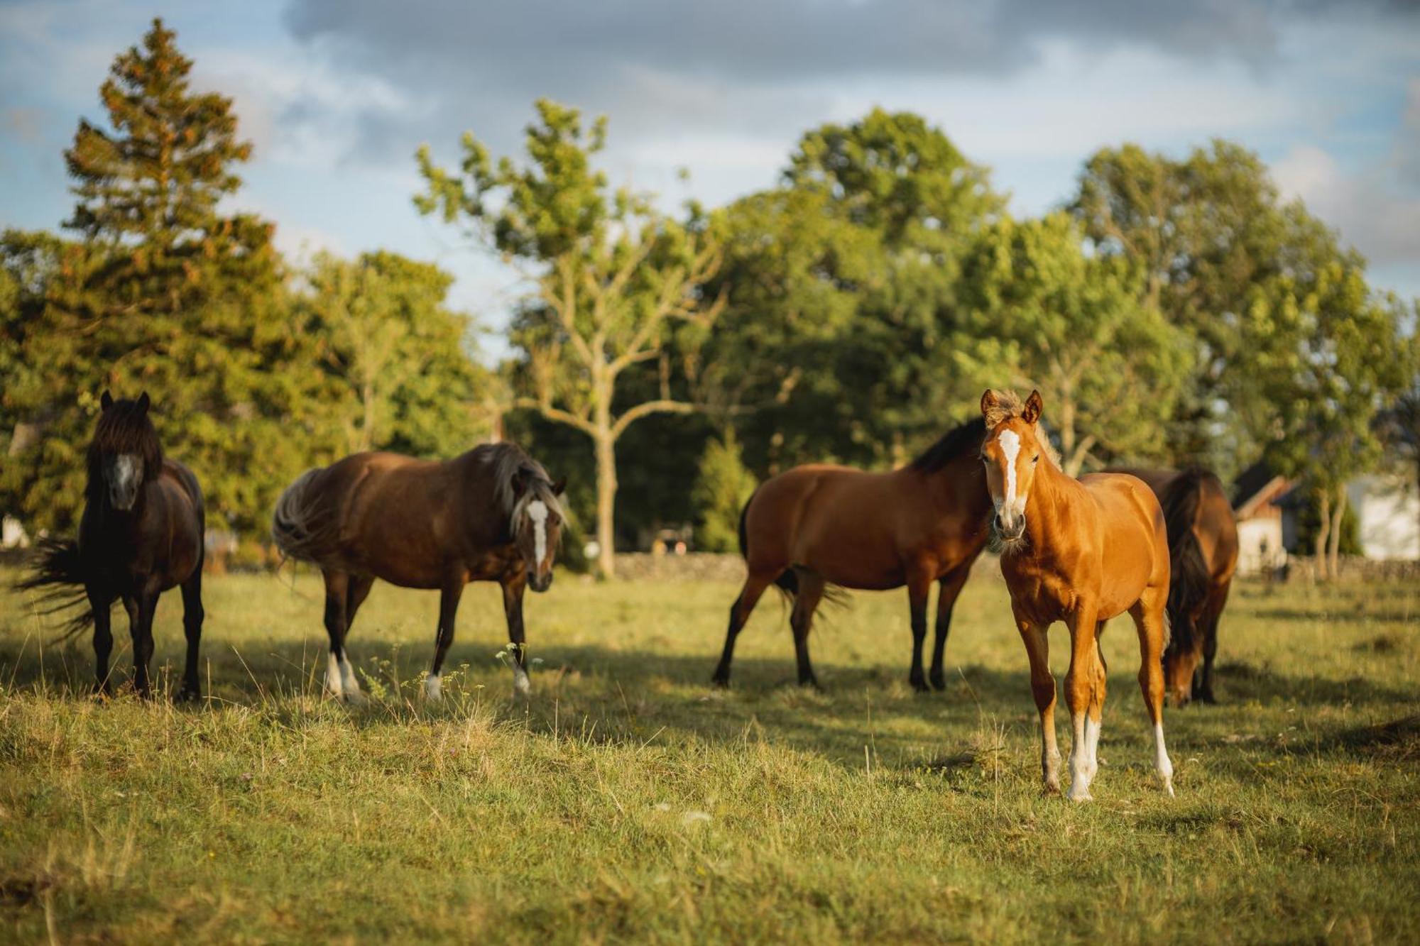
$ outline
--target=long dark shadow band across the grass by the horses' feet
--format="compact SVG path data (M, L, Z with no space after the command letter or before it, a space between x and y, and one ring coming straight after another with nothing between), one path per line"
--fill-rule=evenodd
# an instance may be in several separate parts
M320 699L324 678L324 641L246 641L240 651L220 639L204 641L200 706L246 706L283 726L308 719L344 719L361 729L422 724L430 719L457 719L481 713L503 723L527 726L538 733L574 736L589 743L680 744L765 740L819 754L846 767L863 767L865 751L873 766L888 768L953 768L967 759L963 746L991 743L993 727L1007 727L1034 740L1035 707L1022 666L1003 670L971 663L949 669L946 692L913 693L897 666L821 665L824 692L794 683L791 659L741 659L736 662L731 690L710 686L714 655L666 655L609 646L548 646L532 653L544 662L534 668L531 702L511 699L511 675L490 658L486 642L456 643L446 669L446 702L429 706L420 695L430 648L379 646L355 649L352 658L372 706L344 712ZM182 643L165 641L155 659L160 693L176 687ZM115 651L115 685L129 678L129 653ZM43 653L31 641L0 643L0 685L14 690L41 690L65 699L87 699L92 686L92 652L87 641ZM1109 714L1112 737L1127 741L1127 753L1143 753L1147 741L1145 710L1132 668L1116 666L1110 675ZM1278 703L1298 707L1387 706L1413 702L1406 693L1355 678L1288 676L1245 663L1223 663L1218 690L1221 709L1189 707L1170 712L1170 729L1193 739L1223 719L1228 727L1247 726L1228 713L1227 705ZM122 697L132 699L132 697ZM200 709L199 706L199 709ZM1061 710L1062 712L1062 710ZM1278 710L1264 710L1278 712ZM1399 737L1403 751L1414 746L1414 723ZM1068 741L1068 724L1061 730ZM1203 736L1210 743L1210 737ZM1252 739L1252 737L1250 737ZM1365 734L1322 734L1319 747L1358 751L1370 744ZM1386 744L1376 737L1376 744ZM866 750L865 750L866 747ZM1271 753L1272 746L1250 743L1248 751ZM1279 751L1279 750L1278 750ZM1389 750L1387 750L1389 751ZM971 749L970 753L977 753ZM1409 756L1407 756L1409 757ZM973 754L971 759L976 759ZM1140 754L1135 761L1143 761ZM960 761L960 760L958 760ZM963 763L964 764L964 763Z

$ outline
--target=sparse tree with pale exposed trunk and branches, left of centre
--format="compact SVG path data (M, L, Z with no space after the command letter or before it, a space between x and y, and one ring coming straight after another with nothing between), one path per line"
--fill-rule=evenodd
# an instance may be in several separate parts
M446 223L464 220L534 287L510 338L523 358L517 403L592 440L598 568L611 577L616 442L640 418L696 409L673 396L669 378L659 396L618 403L619 382L633 366L662 361L673 332L687 345L703 339L724 305L723 294L704 293L721 250L697 207L674 219L648 195L612 189L594 169L605 119L584 128L577 109L547 99L537 111L521 166L511 158L494 163L471 134L456 173L422 148L427 190L415 203Z

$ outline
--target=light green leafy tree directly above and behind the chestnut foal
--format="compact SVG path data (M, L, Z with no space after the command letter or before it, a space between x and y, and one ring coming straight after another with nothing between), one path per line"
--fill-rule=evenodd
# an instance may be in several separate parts
M974 388L1038 388L1064 469L1092 457L1156 457L1191 352L1156 308L1137 301L1125 260L1086 256L1069 216L1005 217L963 263L957 342Z

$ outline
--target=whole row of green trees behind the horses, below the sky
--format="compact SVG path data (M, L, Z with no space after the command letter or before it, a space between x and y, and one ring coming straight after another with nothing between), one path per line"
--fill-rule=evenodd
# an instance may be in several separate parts
M251 148L190 68L155 21L64 153L62 233L0 239L0 510L31 530L72 527L104 388L149 391L213 518L253 535L310 466L514 437L568 474L605 574L663 527L733 547L795 463L903 463L985 386L1041 389L1072 474L1265 459L1309 483L1332 557L1345 484L1413 469L1416 303L1230 142L1102 149L1017 219L943 131L875 109L805 132L767 190L667 207L598 168L605 118L540 101L523 153L416 155L412 212L525 288L487 365L436 266L294 266L226 212Z

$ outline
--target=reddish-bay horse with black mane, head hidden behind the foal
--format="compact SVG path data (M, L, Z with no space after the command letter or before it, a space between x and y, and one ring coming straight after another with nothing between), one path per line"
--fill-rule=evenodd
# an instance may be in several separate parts
M734 641L771 584L794 599L790 624L798 682L811 686L818 686L818 678L808 658L808 634L825 594L835 587L907 585L909 680L917 692L926 692L922 649L927 636L927 594L939 582L932 685L944 689L941 660L951 607L988 538L990 497L978 462L984 435L985 425L970 420L892 473L809 464L760 486L740 514L740 554L748 575L730 607L730 628L714 683L730 685Z

